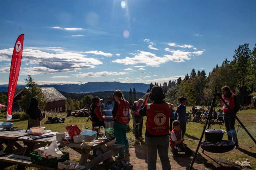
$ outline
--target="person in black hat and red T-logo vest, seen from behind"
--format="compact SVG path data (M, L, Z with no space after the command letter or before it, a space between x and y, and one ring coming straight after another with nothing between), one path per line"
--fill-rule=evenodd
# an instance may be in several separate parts
M147 104L148 99L154 102ZM141 116L147 116L145 144L148 155L148 170L156 169L157 151L162 169L171 169L168 148L170 142L169 117L172 114L172 107L169 103L164 102L164 99L162 87L154 86L150 93L145 94L145 100L139 110Z

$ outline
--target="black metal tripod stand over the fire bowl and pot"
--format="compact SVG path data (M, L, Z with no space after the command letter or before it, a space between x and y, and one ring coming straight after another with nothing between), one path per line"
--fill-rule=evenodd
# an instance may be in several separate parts
M248 131L248 130L245 128L245 126L242 124L242 122L238 119L238 117L235 115L235 113L232 111L232 109L229 107L229 105L228 105L228 104L225 102L225 100L222 98L221 93L215 92L215 93L214 93L214 97L213 97L212 102L211 102L211 107L210 107L209 114L208 114L208 116L207 116L207 118L206 118L206 121L205 121L205 124L204 124L203 133L202 133L201 138L200 138L200 140L199 140L199 142L198 142L197 149L196 149L195 154L194 154L194 156L193 156L193 160L192 160L192 162L191 162L191 165L190 165L189 170L192 169L193 164L194 164L194 162L195 162L195 159L196 159L196 156L197 156L197 153L198 153L198 150L199 150L199 146L200 146L200 144L201 144L201 142L202 142L202 139L203 139L203 137L204 137L204 131L205 131L206 126L207 126L207 124L208 124L208 121L209 121L209 119L210 119L211 113L213 112L213 108L214 108L216 96L218 96L218 97L222 100L222 102L228 107L228 109L231 111L231 113L233 114L233 116L235 116L236 120L241 124L241 126L244 128L244 130L248 133L248 135L251 137L251 139L253 139L253 142L256 144L256 140L253 138L253 136L249 133L249 131Z

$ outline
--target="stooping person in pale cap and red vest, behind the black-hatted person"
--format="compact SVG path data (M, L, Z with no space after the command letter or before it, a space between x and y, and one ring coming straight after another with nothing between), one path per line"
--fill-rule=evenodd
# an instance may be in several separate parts
M138 101L134 101L133 105L132 105L132 120L133 120L133 127L136 127L136 129L138 130L138 133L135 134L135 140L137 142L143 140L144 138L142 137L142 127L143 127L143 116L140 116L139 114L139 110L140 110L140 106L143 104L143 99L139 99Z

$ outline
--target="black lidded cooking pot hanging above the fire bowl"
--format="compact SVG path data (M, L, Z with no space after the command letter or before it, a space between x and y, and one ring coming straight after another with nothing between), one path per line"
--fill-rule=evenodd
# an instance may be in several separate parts
M221 129L206 129L204 131L205 140L210 142L220 142L226 131Z

